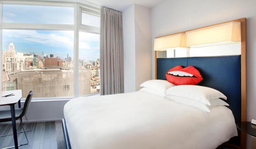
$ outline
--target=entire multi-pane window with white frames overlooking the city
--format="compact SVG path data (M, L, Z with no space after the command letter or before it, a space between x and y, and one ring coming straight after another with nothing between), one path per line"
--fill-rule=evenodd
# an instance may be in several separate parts
M84 11L87 6L76 3L0 3L2 91L22 89L25 98L33 90L33 100L99 92L99 8L90 12L91 6ZM74 17L75 11L81 14Z

